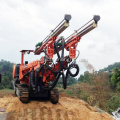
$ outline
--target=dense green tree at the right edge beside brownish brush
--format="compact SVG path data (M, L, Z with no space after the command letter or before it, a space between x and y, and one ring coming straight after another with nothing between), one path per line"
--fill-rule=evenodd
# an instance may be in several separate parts
M114 68L114 73L111 77L112 86L117 90L120 91L120 69Z

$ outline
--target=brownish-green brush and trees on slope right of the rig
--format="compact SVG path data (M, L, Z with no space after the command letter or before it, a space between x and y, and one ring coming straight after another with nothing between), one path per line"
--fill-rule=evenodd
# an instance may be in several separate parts
M66 93L109 113L115 111L120 107L120 69L118 63L109 66L105 71L93 73L86 71L80 75L78 83L68 88Z

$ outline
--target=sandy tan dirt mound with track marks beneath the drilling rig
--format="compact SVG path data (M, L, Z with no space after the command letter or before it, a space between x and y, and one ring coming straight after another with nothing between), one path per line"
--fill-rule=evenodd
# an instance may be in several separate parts
M0 107L6 108L8 120L113 120L107 113L98 113L86 102L61 97L53 105L49 101L31 101L23 104L17 97L0 98Z

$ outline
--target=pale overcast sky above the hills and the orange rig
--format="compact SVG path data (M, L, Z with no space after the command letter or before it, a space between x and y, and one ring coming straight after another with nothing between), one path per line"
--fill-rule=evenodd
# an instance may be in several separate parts
M101 16L98 27L78 45L81 69L81 59L96 70L120 62L120 0L0 0L0 59L20 63L19 51L34 50L65 14L72 16L61 34L65 38L93 15Z

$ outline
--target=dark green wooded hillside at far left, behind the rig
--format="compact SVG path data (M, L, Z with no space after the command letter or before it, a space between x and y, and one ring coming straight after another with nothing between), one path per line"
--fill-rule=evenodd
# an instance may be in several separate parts
M12 85L12 66L13 64L1 60L0 61L0 74L2 75L2 81L0 83L0 89L8 88L8 89L13 89Z

